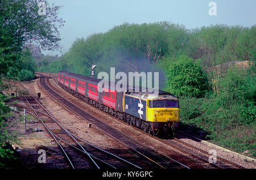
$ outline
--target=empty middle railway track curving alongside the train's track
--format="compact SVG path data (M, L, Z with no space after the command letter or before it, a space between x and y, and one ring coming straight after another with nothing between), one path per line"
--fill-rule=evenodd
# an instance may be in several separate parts
M117 129L110 127L108 124L102 122L101 120L94 118L92 115L88 114L80 107L67 101L67 99L61 97L60 94L58 94L55 90L48 86L46 79L46 77L40 77L40 86L42 86L42 88L49 95L51 95L57 102L67 107L75 114L81 116L82 118L88 120L90 123L94 124L99 129L104 129L104 133L106 133L108 136L112 137L119 143L127 146L127 148L129 148L131 152L133 152L133 154L139 156L139 159L137 159L136 162L139 162L139 164L144 164L145 166L142 168L188 168L188 166L185 166L179 161L176 161L171 157L165 156L163 153L159 153L158 151L150 148L149 146L146 146L143 143L133 139L132 137L125 135L125 133L122 133Z

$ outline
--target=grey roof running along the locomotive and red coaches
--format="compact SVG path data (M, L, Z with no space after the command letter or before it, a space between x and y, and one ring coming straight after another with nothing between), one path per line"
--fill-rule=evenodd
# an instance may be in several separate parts
M88 76L82 76L80 74L75 74L71 72L67 72L64 70L61 70L59 73L63 74L64 76L67 75L71 78L78 79L79 81L84 81L84 82L89 82L93 85L98 85L100 81L108 83L110 90L115 90L115 85L117 85L118 82L110 82L110 81L105 81L102 79L97 79L97 78L92 78ZM125 86L125 87L123 87ZM141 98L141 99L173 99L173 100L179 100L177 97L175 97L173 94L168 93L167 91L162 91L162 90L154 90L152 88L145 88L145 87L134 87L134 86L129 86L129 85L122 85L120 84L119 87L121 87L123 92L125 94L130 95L135 98ZM122 93L123 93L122 92Z

